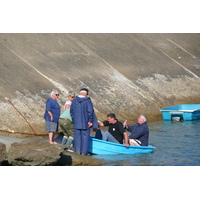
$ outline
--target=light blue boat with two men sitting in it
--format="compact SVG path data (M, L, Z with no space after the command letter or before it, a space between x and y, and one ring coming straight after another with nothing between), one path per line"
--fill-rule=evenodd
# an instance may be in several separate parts
M98 155L112 155L112 154L138 154L150 153L156 147L153 146L129 146L125 147L123 144L99 140L90 137L90 147L88 152Z

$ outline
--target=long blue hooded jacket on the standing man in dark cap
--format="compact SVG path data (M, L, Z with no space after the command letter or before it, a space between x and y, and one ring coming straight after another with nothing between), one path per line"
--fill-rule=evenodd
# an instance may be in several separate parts
M90 97L76 97L72 101L70 114L75 129L88 129L88 122L97 124L96 115Z

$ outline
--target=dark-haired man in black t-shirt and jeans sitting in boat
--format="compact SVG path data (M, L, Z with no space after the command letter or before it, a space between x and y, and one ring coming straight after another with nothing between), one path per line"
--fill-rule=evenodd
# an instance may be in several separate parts
M114 113L110 113L107 115L107 120L103 122L99 122L99 126L109 126L108 131L104 132L102 130L102 140L114 142L114 143L120 143L125 146L129 146L128 143L128 134L126 133L123 124L116 119L116 116Z

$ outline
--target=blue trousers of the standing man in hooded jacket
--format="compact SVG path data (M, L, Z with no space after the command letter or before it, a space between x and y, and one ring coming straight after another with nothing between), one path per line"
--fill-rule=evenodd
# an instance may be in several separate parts
M74 129L74 148L76 153L87 155L90 143L90 129Z

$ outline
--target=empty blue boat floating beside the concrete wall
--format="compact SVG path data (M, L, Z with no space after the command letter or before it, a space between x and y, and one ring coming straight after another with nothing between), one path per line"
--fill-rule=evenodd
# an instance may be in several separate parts
M163 120L173 120L179 118L180 120L197 120L200 119L200 104L182 104L175 105L160 110L162 112Z

